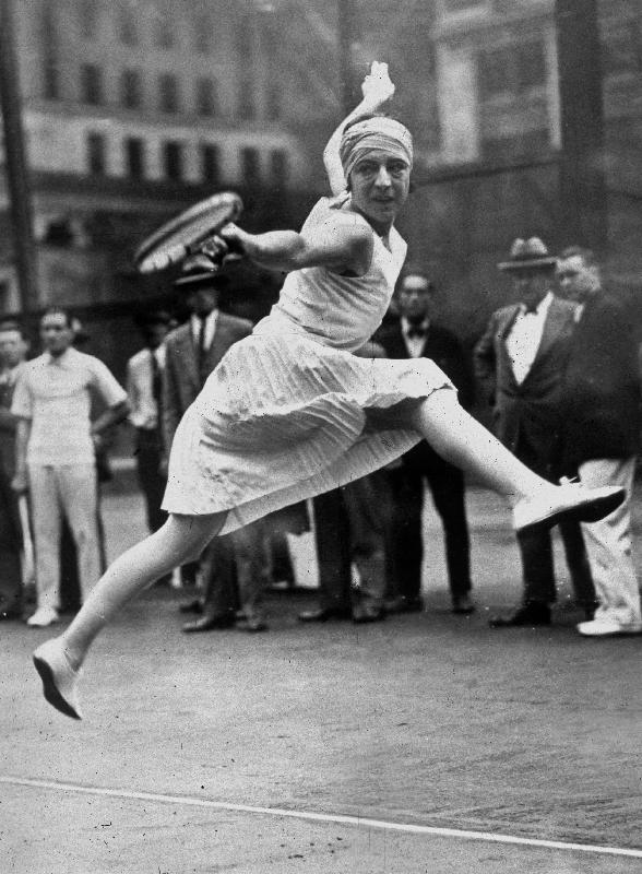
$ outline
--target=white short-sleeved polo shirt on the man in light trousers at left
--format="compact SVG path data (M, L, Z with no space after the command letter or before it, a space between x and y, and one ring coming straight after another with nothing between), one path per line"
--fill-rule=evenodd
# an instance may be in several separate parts
M57 358L45 352L21 368L11 412L31 420L29 464L94 463L92 391L107 406L127 400L108 367L75 349Z

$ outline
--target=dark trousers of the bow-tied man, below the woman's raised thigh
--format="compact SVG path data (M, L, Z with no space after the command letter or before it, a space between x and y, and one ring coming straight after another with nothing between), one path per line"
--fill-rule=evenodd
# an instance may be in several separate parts
M443 525L451 595L454 598L466 594L472 588L464 475L459 468L437 456L427 461L428 463L421 464L419 461L409 462L404 459L399 468L389 472L393 497L389 588L391 595L403 595L408 600L418 598L421 591L421 511L425 482L430 488L435 508Z

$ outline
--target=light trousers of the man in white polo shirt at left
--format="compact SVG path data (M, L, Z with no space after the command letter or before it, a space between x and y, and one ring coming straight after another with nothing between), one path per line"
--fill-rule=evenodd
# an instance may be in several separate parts
M81 598L100 577L95 464L29 464L39 607L60 606L62 516L76 545Z

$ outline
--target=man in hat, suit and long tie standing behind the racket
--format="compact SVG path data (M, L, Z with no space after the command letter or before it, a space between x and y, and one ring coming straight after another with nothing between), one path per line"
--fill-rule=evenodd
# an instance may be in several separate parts
M187 295L191 316L185 324L171 331L165 341L163 425L167 452L178 423L197 399L210 374L227 350L252 331L252 324L247 319L218 309L218 294L224 284L225 277L213 272L212 261L205 255L188 258L175 283L175 287ZM212 541L201 557L205 583L203 601L192 601L181 607L183 612L194 610L202 615L183 625L183 631L209 631L236 624L237 554L245 627L251 631L265 628L260 616L260 550L259 531L254 532L252 525Z

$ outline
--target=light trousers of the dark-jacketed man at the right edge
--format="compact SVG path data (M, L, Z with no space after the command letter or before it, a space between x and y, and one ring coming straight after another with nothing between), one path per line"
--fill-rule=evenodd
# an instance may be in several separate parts
M588 562L599 606L595 618L620 625L640 623L640 590L631 544L631 498L635 458L594 459L580 465L585 486L621 485L623 503L599 522L582 523Z

